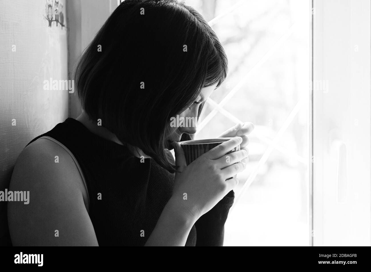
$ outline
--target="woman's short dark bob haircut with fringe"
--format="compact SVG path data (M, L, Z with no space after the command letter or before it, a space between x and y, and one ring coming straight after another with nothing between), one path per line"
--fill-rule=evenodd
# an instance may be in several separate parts
M125 0L84 50L74 79L89 118L101 119L121 142L174 173L164 150L170 118L190 107L202 88L219 87L227 71L219 39L192 7Z

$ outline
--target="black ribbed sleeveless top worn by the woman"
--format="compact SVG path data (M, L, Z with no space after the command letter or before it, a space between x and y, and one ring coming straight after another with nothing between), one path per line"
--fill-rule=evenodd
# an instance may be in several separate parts
M57 140L76 158L86 182L89 216L99 246L143 246L171 197L174 174L152 158L141 162L124 145L93 134L73 118L31 142L43 136ZM222 246L233 200L230 191L201 216L185 245Z

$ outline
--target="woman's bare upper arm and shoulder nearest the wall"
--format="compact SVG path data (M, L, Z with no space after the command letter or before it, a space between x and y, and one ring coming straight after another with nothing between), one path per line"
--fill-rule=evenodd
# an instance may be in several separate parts
M39 138L24 148L9 191L28 195L8 202L13 245L98 245L79 169L58 142Z

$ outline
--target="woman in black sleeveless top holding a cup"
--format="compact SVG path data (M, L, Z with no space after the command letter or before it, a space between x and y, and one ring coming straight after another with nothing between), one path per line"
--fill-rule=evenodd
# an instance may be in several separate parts
M235 138L186 166L178 141L196 127L169 124L198 117L226 74L224 50L193 8L121 3L76 66L83 113L17 159L9 189L29 191L30 203L9 202L13 245L223 245L238 183L226 179L245 168L253 125L224 132Z

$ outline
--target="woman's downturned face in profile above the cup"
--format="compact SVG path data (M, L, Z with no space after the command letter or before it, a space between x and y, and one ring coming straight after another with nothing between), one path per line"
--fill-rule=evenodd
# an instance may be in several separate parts
M176 122L172 122L170 125L171 134L167 139L169 143L168 149L173 149L170 143L174 141L179 142L183 133L196 133L198 108L200 107L201 103L210 97L211 93L213 93L214 89L216 88L216 85L217 84L214 84L212 86L203 88L200 95L198 95L196 98L196 101L194 101L194 103L187 108L187 110L183 111L178 116L174 116L173 119Z

